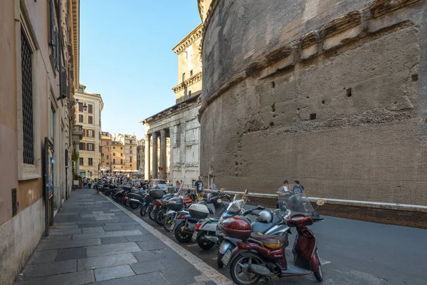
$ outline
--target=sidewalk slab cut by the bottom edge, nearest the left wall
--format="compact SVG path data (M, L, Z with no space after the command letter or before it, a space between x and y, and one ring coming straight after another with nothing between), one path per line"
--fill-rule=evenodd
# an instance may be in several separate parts
M78 271L68 274L59 274L38 277L34 279L28 279L26 281L21 281L16 283L17 285L83 285L88 283L95 282L95 277L93 276L93 271Z

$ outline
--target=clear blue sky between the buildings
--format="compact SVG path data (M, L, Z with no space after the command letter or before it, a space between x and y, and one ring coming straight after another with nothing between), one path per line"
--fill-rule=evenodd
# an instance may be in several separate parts
M135 133L175 104L172 48L201 22L196 0L81 0L80 83L104 101L102 130Z

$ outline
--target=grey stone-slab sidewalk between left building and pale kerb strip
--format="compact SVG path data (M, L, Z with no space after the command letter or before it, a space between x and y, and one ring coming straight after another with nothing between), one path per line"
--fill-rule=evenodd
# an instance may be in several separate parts
M73 191L16 284L214 285L95 190Z

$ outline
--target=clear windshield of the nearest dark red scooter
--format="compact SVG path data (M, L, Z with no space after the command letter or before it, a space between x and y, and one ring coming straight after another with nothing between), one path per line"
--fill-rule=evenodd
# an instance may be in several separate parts
M278 209L283 211L289 209L291 215L303 214L305 216L311 216L315 210L300 185L295 185L292 189L287 187L279 188Z

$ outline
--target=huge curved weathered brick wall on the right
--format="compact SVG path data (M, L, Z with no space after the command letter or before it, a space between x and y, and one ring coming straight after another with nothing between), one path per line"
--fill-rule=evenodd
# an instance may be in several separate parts
M263 193L297 179L343 204L427 204L426 1L198 3L204 177Z

